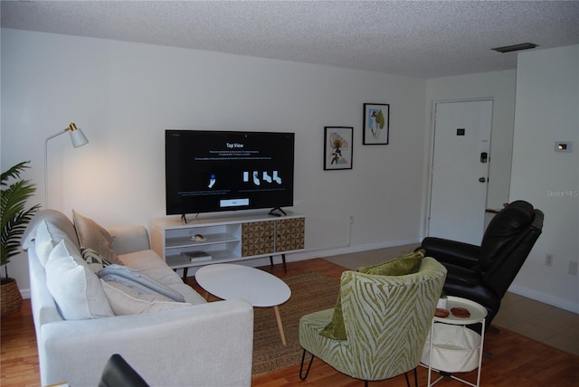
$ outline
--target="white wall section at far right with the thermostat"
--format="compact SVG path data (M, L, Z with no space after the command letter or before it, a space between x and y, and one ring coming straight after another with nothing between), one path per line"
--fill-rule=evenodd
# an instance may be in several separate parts
M555 141L573 141L555 153ZM545 212L543 234L513 283L527 297L579 313L579 45L522 52L510 197ZM553 254L553 267L545 266Z

